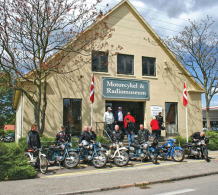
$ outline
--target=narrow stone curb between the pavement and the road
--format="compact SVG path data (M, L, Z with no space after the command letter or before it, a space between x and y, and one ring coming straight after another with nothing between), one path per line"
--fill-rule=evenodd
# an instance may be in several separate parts
M210 173L202 173L202 174L198 174L198 175L175 177L175 178L172 178L172 179L164 179L164 180L157 180L157 181L151 181L151 182L145 181L145 182L134 183L134 184L124 184L124 185L119 185L119 186L114 186L114 187L96 188L96 189L92 189L92 190L83 190L83 191L76 191L76 192L61 193L59 195L86 194L86 193L94 193L94 192L103 192L103 191L109 191L109 190L124 189L124 188L130 188L130 187L141 187L141 186L147 186L147 185L152 185L152 184L168 183L168 182L172 182L172 181L193 179L193 178L197 178L197 177L205 177L205 176L216 175L216 174L218 174L218 171L210 172Z

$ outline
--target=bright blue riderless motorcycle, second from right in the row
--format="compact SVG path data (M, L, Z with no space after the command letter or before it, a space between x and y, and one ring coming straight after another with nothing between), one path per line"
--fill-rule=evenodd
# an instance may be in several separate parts
M175 139L169 139L162 146L157 148L158 155L162 158L172 158L176 162L182 162L184 151L182 147L175 146Z

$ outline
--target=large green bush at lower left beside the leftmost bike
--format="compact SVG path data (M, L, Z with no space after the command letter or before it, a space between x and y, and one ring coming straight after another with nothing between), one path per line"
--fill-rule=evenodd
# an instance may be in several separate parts
M15 143L0 143L0 180L27 179L36 171L26 160L24 151Z

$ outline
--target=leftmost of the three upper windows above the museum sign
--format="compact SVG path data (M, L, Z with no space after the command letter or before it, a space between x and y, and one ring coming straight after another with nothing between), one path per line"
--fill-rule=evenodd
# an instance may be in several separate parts
M92 71L108 72L108 53L92 51Z

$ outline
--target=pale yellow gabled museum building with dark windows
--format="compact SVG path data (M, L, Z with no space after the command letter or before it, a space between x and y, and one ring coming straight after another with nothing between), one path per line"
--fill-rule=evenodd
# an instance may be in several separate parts
M202 87L192 77L184 76L189 75L187 70L130 2L121 1L99 19L102 20L114 29L107 44L100 50L93 48L89 51L86 58L89 63L78 70L67 76L49 76L44 135L55 136L61 125L66 125L76 135L84 125L91 125L89 97L92 73L95 79L93 129L97 133L102 133L106 108L112 107L114 113L121 106L135 117L136 129L143 123L151 130L152 116L161 111L167 136L179 133L185 137L185 80L189 135L202 130ZM101 40L96 42L101 43ZM80 57L75 53L66 57L65 69L71 70L75 59ZM33 106L22 94L17 95L14 104L18 139L30 130L34 121Z

